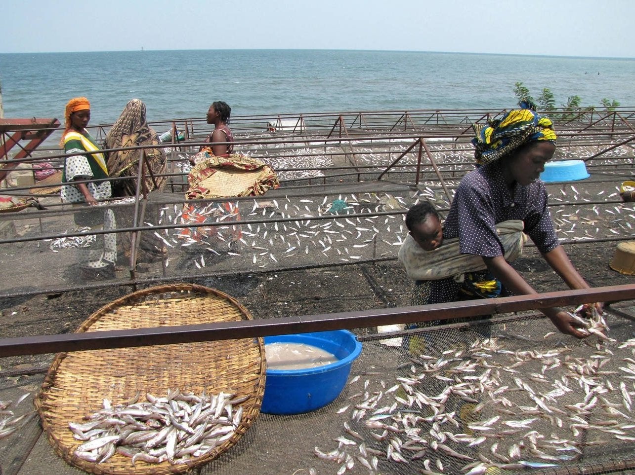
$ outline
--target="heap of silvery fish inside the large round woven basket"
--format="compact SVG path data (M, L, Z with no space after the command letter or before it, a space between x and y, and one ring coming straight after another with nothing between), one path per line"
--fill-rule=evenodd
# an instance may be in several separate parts
M112 405L69 422L74 438L82 441L74 451L88 462L103 463L115 453L150 464L184 464L211 452L234 435L243 417L240 404L249 396L169 391L165 397L139 394L124 404Z

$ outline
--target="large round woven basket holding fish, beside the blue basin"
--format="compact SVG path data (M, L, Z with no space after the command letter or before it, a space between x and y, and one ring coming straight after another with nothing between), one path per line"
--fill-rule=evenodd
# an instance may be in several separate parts
M166 327L195 323L251 320L247 309L232 297L201 285L173 284L138 290L121 297L86 320L77 332ZM247 431L260 413L265 388L266 360L262 338L189 344L103 349L60 353L51 364L35 404L55 451L67 462L95 474L174 474L209 462L225 452ZM69 422L97 412L104 398L121 404L135 394L165 396L168 389L183 393L248 396L234 434L211 452L186 464L136 464L116 454L97 464L79 459L81 444Z

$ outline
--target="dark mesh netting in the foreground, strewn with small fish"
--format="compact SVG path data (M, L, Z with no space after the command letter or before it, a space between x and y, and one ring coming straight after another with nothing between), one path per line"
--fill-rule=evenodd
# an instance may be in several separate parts
M577 341L533 315L360 337L333 403L261 413L201 473L623 472L635 459L634 328L608 323L615 342ZM2 460L30 450L12 437ZM42 439L18 473L79 472Z

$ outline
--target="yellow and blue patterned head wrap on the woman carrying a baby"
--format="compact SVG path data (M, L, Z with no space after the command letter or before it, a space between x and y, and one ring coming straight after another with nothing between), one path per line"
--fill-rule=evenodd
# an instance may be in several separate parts
M500 120L491 120L488 125L473 124L476 137L476 163L485 165L513 152L525 143L546 140L556 145L554 124L545 115L533 112L535 105L530 102L518 103L520 109L508 112Z

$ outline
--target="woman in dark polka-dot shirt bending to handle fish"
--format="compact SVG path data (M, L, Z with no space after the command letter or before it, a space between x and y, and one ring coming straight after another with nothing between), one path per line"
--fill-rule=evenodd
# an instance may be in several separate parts
M458 238L460 252L481 256L486 273L502 287L516 295L537 292L505 260L496 224L508 219L525 223L525 233L570 289L589 289L589 284L575 269L554 231L547 204L547 190L540 181L545 162L556 151L556 133L548 117L534 112L535 106L521 103L500 120L487 126L475 124L477 169L461 180L443 226L443 237ZM481 277L482 278L482 277ZM415 296L413 304L457 301L464 284L452 278L431 281ZM472 297L473 298L473 297ZM602 304L585 306L601 311ZM578 338L580 323L559 308L544 308L547 316L561 332Z

